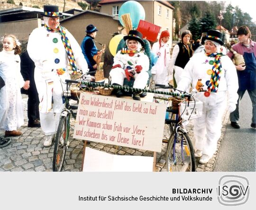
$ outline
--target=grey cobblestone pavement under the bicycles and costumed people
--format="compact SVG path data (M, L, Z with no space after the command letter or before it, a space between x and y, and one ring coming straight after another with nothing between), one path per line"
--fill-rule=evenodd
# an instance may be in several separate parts
M25 124L20 128L23 134L19 137L13 137L12 142L7 147L0 148L0 171L52 171L54 146L50 148L43 147L45 135L41 131L41 128L27 127L27 96L25 95L23 95L23 104ZM223 127L218 142L218 151L226 131L228 120L229 113L226 112L223 116ZM192 139L193 127L191 124L188 125L187 130ZM0 135L4 135L4 131L0 131ZM72 136L73 132L71 131L70 145L66 152L63 171L81 171L83 141L73 140ZM169 136L170 131L168 131L168 126L166 126L164 139L168 139ZM153 152L151 151L113 146L110 144L91 142L88 146L111 154L153 156ZM163 143L162 152L157 153L156 171L166 171L166 147L167 144ZM196 171L212 171L218 151L205 165L198 164L197 160Z

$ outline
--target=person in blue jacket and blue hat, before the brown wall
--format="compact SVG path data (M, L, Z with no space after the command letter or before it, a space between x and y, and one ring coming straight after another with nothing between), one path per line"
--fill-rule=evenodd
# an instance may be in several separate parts
M89 74L91 76L95 76L95 73L90 73L90 72L97 70L97 63L93 59L93 56L97 55L98 53L98 49L93 41L93 39L96 37L97 31L98 29L95 26L93 26L92 24L88 25L85 31L86 36L83 38L82 44L81 44L82 53L84 55L85 60L87 61Z

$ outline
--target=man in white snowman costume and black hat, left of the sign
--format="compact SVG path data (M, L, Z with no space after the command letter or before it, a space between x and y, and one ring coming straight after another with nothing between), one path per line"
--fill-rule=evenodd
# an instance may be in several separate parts
M64 108L65 79L70 79L68 63L73 73L88 71L80 45L67 29L60 26L62 13L54 5L44 6L45 26L32 31L27 44L29 57L35 62L35 83L39 96L41 128L45 132L45 147L52 145L61 110Z

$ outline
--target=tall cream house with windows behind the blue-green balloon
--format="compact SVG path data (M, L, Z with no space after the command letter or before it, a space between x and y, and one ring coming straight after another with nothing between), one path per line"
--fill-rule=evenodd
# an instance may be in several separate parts
M119 9L127 0L101 0L99 2L103 13L118 16ZM160 33L164 30L170 32L170 43L172 43L173 30L173 11L172 6L168 1L160 0L137 0L145 10L145 20L157 26L161 26ZM159 35L160 35L159 33Z

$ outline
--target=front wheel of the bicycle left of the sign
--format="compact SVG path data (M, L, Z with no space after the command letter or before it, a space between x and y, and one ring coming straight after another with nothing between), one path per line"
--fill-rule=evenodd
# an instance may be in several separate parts
M55 135L53 171L61 171L65 159L67 146L64 143L67 134L67 117L61 116L58 130Z

